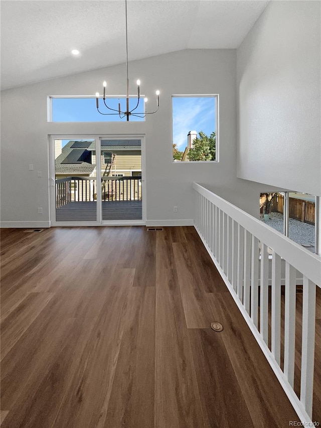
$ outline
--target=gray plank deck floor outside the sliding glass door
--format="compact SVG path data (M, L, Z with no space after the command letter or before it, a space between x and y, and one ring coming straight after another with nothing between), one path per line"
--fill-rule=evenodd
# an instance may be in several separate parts
M141 201L102 201L103 220L141 220ZM69 202L56 209L56 221L96 221L97 202Z

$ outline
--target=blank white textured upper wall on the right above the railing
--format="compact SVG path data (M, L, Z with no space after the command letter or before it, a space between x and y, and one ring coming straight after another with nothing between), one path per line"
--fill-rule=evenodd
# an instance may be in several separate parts
M320 2L272 1L237 50L237 176L321 195Z

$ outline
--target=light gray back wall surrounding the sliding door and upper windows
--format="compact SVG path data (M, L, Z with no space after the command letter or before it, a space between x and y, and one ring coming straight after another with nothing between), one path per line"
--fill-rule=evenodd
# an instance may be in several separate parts
M208 185L216 193L253 215L259 192L265 189L236 178L236 51L187 50L129 64L135 93L136 78L150 100L161 90L159 111L146 123L47 122L48 95L90 95L108 80L113 94L125 92L125 66L80 73L2 92L2 225L6 222L49 221L49 134L146 134L147 220L192 220L192 182ZM172 94L220 94L220 162L172 163ZM28 165L34 171L28 171ZM37 177L42 171L42 178ZM173 212L173 206L179 212ZM38 207L44 208L38 214Z

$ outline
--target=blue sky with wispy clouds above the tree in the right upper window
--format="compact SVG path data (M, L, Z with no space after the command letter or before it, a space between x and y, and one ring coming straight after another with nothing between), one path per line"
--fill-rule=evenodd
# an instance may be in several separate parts
M189 131L210 135L215 121L214 97L173 97L173 144L178 150L185 150Z

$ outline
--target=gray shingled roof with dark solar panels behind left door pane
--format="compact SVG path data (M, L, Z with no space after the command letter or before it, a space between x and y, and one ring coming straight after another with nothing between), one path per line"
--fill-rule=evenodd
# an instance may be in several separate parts
M91 152L87 150L91 144L92 141L67 142L55 160L56 174L90 175L96 168L91 164Z

